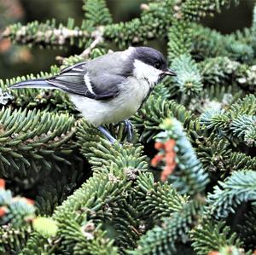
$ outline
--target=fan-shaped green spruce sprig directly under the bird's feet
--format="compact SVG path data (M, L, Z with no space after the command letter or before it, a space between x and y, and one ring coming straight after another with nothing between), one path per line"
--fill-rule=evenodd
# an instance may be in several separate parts
M114 135L122 138L124 130L120 128L117 131ZM118 142L111 144L95 125L90 125L84 120L81 120L79 125L78 139L81 151L93 165L94 171L102 171L102 167L108 170L117 167L122 170L131 168L144 171L148 166L145 162L146 156L142 155L142 145L124 143L120 147Z

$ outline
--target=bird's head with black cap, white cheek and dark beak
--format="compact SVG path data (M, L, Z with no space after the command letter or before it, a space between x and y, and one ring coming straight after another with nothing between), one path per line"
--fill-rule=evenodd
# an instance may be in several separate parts
M167 67L166 59L160 51L149 47L130 47L125 50L132 63L133 76L146 79L151 87L167 75L176 73Z

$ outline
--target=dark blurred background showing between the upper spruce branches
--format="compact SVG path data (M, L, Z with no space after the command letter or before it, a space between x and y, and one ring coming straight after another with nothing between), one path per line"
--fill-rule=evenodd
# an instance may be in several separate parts
M230 9L224 9L214 18L207 18L202 22L223 33L234 32L251 25L254 0L241 0L238 6L234 4ZM139 16L140 4L146 0L107 0L108 8L113 20L126 21ZM22 24L38 20L55 18L58 22L67 23L72 17L79 26L84 18L82 0L0 0L0 32L4 27L20 21ZM150 43L156 48L163 45L160 42ZM161 49L163 52L166 49ZM49 71L49 66L56 64L56 55L68 56L79 54L82 49L69 47L68 49L39 49L26 46L13 46L9 41L0 41L0 78L12 78L27 73Z

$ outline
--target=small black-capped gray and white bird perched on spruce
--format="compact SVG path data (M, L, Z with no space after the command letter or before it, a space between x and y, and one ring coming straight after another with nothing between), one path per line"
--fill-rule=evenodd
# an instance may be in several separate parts
M82 116L115 142L102 125L125 121L137 113L162 78L176 76L166 58L150 47L129 47L82 61L49 78L26 80L10 89L38 88L66 92Z

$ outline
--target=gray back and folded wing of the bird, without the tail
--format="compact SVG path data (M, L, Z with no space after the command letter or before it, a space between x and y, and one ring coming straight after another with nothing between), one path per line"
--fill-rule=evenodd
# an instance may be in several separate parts
M119 84L124 84L131 74L124 72L125 65L122 61L119 52L102 55L95 60L67 67L47 82L69 93L108 100L119 95ZM89 80L90 84L86 83L84 75L88 77L87 82Z

